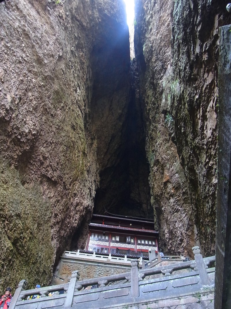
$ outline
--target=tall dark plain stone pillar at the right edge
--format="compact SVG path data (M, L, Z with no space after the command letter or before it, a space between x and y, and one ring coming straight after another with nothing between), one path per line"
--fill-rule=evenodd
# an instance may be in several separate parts
M231 25L219 28L217 225L214 308L231 308Z

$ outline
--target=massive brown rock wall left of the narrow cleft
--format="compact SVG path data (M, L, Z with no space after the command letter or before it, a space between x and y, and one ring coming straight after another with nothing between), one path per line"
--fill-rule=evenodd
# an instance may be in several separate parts
M22 278L29 287L47 285L72 235L84 244L99 186L97 157L104 152L90 109L105 81L102 57L118 70L110 95L120 103L113 118L104 116L115 127L105 143L123 124L130 60L124 4L12 0L0 3L0 23L0 287L14 288Z

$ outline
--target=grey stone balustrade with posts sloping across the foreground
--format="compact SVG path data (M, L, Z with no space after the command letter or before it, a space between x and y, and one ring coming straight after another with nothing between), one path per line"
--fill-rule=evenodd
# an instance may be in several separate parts
M129 304L151 305L173 298L179 301L182 297L193 298L195 302L198 297L206 297L211 302L215 257L203 259L199 248L193 249L195 260L138 270L138 260L133 259L130 272L113 276L78 281L78 271L75 271L70 283L34 290L24 290L26 282L20 281L9 309L123 308ZM88 290L94 285L98 287ZM52 291L63 294L47 296ZM41 298L23 300L38 293Z

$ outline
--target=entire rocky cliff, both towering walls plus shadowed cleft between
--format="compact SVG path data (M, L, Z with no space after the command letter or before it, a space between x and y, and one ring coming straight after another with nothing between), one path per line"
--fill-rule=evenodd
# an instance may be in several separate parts
M0 3L1 288L47 285L93 206L154 215L166 253L213 253L228 19L224 1L136 0L130 67L122 0Z

